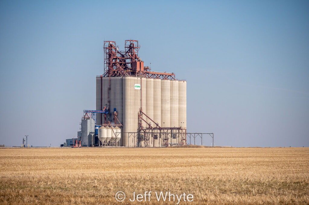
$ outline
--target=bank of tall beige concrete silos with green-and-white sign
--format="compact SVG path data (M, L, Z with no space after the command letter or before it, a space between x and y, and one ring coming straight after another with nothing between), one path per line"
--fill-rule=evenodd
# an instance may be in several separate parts
M138 113L142 111L162 128L186 128L186 81L162 80L140 77L101 77L96 78L96 110L108 107L110 112L118 113L121 127L120 146L133 146L128 133L138 130ZM148 118L147 123L155 126ZM97 114L96 124L101 125L102 115ZM113 121L113 116L108 115ZM146 127L146 122L142 126ZM101 131L100 131L101 129ZM112 137L110 129L99 128L99 139L106 143ZM106 134L105 134L106 132ZM101 135L100 135L101 133ZM101 136L101 137L100 137ZM106 137L105 137L106 136ZM151 139L149 146L159 146L159 139Z

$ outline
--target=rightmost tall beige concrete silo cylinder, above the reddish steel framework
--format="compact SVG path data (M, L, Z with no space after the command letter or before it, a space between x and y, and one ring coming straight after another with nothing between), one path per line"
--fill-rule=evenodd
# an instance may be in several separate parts
M178 83L178 126L187 128L187 81Z

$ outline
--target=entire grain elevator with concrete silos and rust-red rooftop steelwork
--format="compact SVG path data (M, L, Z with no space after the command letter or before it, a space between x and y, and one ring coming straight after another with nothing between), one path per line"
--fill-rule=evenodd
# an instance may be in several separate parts
M126 40L125 51L114 41L104 41L104 73L96 76L96 109L84 110L73 146L182 146L187 136L191 142L186 129L186 80L144 66L139 49L137 40Z

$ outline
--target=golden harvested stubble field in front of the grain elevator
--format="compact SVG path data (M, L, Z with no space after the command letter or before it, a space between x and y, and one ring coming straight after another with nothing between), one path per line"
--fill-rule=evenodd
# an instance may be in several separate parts
M133 191L150 202L130 202ZM309 148L0 149L0 204L178 202L155 191L193 195L179 204L309 204Z

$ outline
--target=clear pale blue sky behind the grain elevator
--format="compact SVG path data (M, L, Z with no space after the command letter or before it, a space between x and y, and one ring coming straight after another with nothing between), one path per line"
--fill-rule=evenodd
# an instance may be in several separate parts
M104 39L138 39L145 65L187 79L188 132L309 146L309 1L1 1L0 25L0 144L76 136Z

